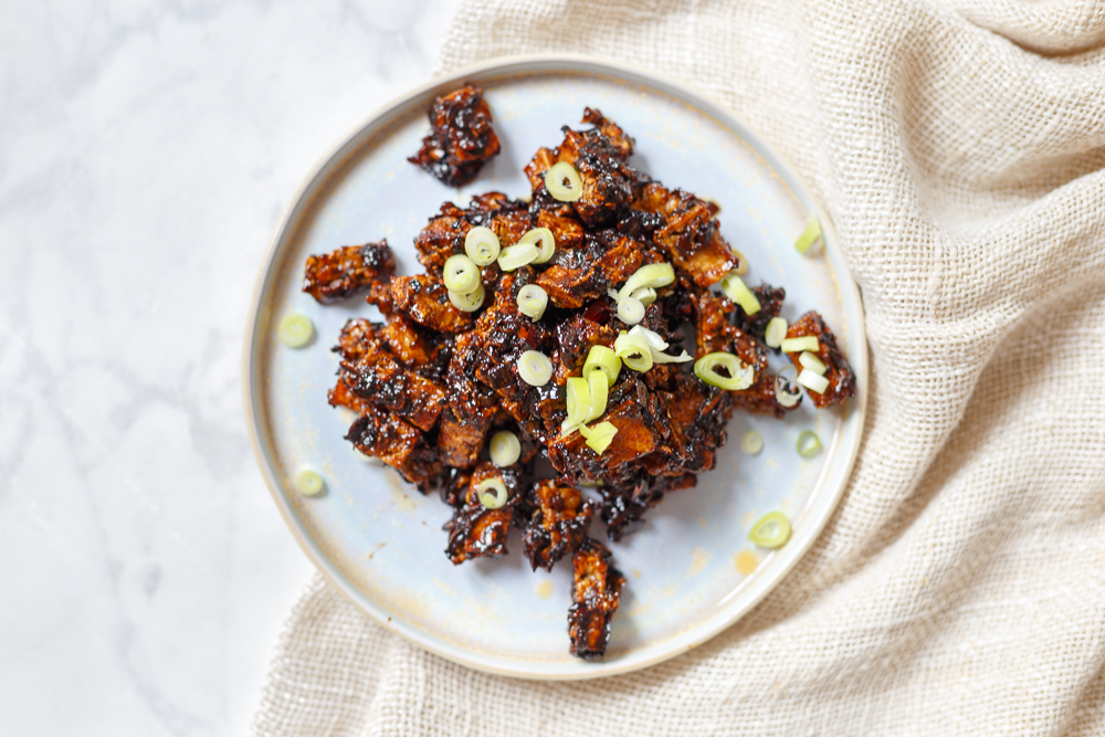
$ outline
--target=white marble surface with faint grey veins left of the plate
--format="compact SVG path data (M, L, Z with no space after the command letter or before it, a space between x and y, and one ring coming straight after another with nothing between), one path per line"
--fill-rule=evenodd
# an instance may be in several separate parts
M455 0L0 6L0 735L241 735L311 575L246 310L315 160Z

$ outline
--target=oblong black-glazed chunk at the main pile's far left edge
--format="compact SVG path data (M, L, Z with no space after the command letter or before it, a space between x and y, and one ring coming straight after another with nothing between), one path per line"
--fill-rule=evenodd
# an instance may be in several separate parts
M341 364L343 378L355 394L429 432L445 404L445 390L403 368L379 343L356 361Z

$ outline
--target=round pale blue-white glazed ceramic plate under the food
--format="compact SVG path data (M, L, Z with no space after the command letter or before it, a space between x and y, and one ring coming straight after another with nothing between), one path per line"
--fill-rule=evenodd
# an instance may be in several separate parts
M461 83L483 86L502 154L476 181L449 189L406 161L428 133L425 109ZM785 421L737 413L717 467L694 489L669 494L646 524L611 544L628 583L610 647L599 663L568 653L571 571L533 572L516 530L511 555L453 566L441 527L450 508L420 495L388 467L366 463L343 440L352 418L326 403L343 323L376 316L360 298L322 307L299 291L308 254L387 238L399 273L417 273L412 239L444 200L475 192L528 197L523 167L539 146L560 143L560 126L599 107L636 139L634 164L669 186L720 204L722 232L748 259L748 280L787 288L783 315L818 308L855 368L859 396L841 411L807 400ZM378 112L307 177L283 218L264 264L248 331L246 404L261 468L307 555L351 601L383 627L473 668L528 678L591 678L625 673L702 644L754 607L821 531L840 498L860 444L867 348L855 284L825 228L823 249L793 248L817 204L798 177L724 107L674 82L579 56L497 60L415 90ZM292 350L276 339L284 315L311 317L316 337ZM775 359L775 357L772 357ZM776 361L781 366L781 361ZM756 456L739 450L749 429L764 435ZM814 430L824 450L799 457L798 433ZM316 468L325 494L294 493L290 480ZM747 541L760 515L781 509L793 536L781 549ZM601 524L592 535L604 535Z

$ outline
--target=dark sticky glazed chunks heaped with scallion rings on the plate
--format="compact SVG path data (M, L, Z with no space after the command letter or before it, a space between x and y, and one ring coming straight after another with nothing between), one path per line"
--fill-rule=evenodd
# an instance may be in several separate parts
M446 182L498 150L477 88L439 98L431 123L415 159ZM526 166L528 199L443 204L414 240L424 273L396 275L381 241L311 256L304 291L366 291L386 317L348 320L335 348L329 402L358 414L347 439L440 489L454 564L506 555L512 525L535 570L570 557L571 652L590 660L624 583L594 514L618 540L714 467L735 409L781 418L799 385L818 408L855 387L820 315L788 326L782 288L745 284L716 206L631 166L633 139L598 109L583 123ZM796 381L768 370L769 350Z

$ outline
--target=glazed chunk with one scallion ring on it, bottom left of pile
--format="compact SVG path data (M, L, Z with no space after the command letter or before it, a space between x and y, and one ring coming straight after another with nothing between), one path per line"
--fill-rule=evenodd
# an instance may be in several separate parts
M476 491L481 483L490 478L498 478L506 486L507 502L497 509L485 507ZM522 498L520 486L520 475L513 468L497 468L485 461L473 470L462 497L463 503L456 507L453 518L444 527L449 533L445 555L453 565L459 566L472 558L506 555L506 535L511 529L514 507Z

